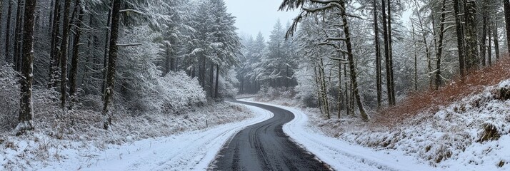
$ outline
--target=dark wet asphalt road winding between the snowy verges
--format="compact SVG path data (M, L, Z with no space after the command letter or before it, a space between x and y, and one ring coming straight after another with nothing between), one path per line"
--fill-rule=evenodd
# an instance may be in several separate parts
M274 117L234 135L216 155L209 170L331 170L282 130L285 123L294 119L294 114L270 105L233 102L269 110Z

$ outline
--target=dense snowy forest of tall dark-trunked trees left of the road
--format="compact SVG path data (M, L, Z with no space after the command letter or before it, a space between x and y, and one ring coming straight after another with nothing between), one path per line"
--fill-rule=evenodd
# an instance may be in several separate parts
M58 95L57 119L101 101L105 129L114 103L168 112L233 94L241 43L222 0L2 2L0 63L20 74L18 134L34 129L34 88Z

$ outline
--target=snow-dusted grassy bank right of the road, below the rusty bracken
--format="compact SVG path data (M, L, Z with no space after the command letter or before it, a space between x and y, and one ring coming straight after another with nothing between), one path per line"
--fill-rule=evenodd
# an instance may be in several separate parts
M393 128L349 120L322 121L325 133L349 142L403 151L441 168L510 169L510 81L486 87L456 103L424 112Z

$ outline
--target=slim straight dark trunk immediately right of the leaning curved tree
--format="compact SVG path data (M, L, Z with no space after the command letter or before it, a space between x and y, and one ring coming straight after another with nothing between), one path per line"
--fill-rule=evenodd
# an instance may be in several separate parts
M381 45L379 44L379 21L377 21L377 1L374 0L374 35L376 48L376 88L377 108L381 108L382 99L382 77L381 77Z

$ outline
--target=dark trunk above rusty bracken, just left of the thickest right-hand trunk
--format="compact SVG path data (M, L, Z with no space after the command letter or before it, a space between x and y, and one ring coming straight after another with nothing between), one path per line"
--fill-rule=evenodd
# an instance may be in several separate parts
M457 34L457 51L459 53L459 71L461 73L461 78L464 78L466 75L465 71L466 68L464 66L465 59L464 59L464 30L462 29L462 22L461 22L461 11L460 11L460 0L454 0L454 13L455 13L455 27L456 27L456 34Z

